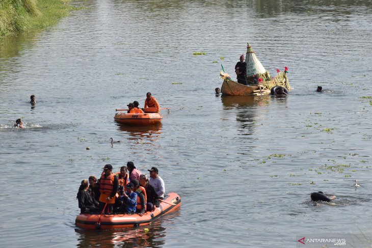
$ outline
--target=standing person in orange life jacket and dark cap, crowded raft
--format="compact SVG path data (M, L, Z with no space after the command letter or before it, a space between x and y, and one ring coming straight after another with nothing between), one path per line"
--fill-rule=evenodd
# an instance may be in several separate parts
M102 211L105 204L108 203L109 212L112 212L119 181L116 174L112 173L113 167L111 164L106 164L102 169L103 173L99 179L99 191L101 193L99 196L99 211Z

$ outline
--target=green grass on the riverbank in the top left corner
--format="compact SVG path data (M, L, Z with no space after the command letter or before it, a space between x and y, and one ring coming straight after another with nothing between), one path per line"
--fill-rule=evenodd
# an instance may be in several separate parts
M56 24L73 9L70 0L0 1L0 36L43 29Z

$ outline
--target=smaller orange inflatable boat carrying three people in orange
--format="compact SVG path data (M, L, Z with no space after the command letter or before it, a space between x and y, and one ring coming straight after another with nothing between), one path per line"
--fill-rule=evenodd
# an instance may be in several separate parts
M116 113L114 119L119 124L126 125L154 125L162 122L163 116L160 113L150 113L154 107L145 108L145 113L134 114L134 113ZM118 110L118 109L117 109Z

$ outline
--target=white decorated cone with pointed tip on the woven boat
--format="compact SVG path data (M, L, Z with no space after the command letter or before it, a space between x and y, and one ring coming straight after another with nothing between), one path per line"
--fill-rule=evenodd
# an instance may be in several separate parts
M256 85L259 78L263 81L271 80L271 76L267 70L259 62L255 52L252 50L252 46L247 42L247 79L248 84Z

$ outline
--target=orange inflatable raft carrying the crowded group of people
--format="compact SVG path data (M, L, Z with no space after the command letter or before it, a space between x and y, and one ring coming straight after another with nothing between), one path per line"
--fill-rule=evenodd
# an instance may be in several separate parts
M175 211L181 206L181 198L174 192L167 194L153 212L146 212L143 216L138 214L88 214L76 216L76 226L83 229L121 229L148 225L164 214Z

